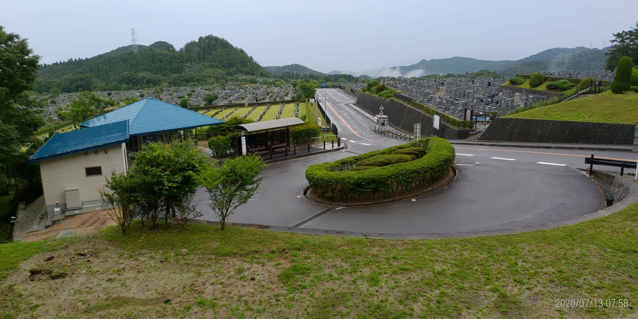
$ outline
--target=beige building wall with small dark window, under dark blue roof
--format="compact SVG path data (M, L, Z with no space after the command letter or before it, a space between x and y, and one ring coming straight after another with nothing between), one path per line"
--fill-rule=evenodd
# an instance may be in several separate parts
M98 151L98 154L95 154ZM105 153L105 151L108 151ZM62 156L40 161L42 188L44 190L45 205L50 207L66 204L65 189L80 190L82 203L100 200L100 187L106 183L105 177L111 172L124 172L124 147L115 145L103 149ZM87 177L84 168L102 167L102 175Z

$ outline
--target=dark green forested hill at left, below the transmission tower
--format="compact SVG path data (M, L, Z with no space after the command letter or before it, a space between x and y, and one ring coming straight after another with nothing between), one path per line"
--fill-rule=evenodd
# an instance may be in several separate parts
M130 47L130 46L129 46ZM158 41L133 53L126 47L88 59L41 66L36 91L76 92L149 85L214 84L235 75L269 73L241 48L217 36L203 36L175 50ZM113 87L115 86L115 87Z

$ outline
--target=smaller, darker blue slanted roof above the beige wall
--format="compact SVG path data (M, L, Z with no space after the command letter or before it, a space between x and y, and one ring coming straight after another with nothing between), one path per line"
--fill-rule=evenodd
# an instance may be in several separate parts
M128 142L128 121L57 133L29 158L29 163Z

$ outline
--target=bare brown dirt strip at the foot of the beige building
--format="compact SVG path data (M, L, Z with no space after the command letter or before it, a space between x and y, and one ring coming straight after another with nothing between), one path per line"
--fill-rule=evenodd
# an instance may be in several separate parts
M115 225L115 222L108 216L107 211L85 212L69 216L47 229L24 234L22 241L41 241L45 238L55 238L61 230L66 229L77 229L77 235L90 234L112 225Z

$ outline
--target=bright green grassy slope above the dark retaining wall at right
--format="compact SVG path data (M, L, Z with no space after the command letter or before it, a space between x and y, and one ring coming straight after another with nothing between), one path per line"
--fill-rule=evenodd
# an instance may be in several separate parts
M638 121L638 93L613 94L607 91L506 117L635 124Z

